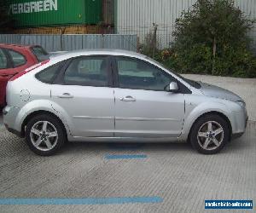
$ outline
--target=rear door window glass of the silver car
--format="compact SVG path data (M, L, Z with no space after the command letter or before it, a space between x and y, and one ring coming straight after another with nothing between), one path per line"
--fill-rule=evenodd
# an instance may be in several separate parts
M87 56L73 59L64 74L68 85L108 86L108 59L105 56Z

